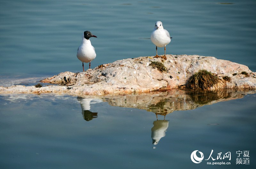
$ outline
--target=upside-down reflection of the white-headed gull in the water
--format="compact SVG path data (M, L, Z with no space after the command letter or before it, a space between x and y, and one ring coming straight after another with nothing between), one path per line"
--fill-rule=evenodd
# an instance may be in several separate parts
M165 132L169 126L169 121L166 120L156 120L153 122L153 127L151 129L151 138L153 144L156 145L162 137L165 136Z

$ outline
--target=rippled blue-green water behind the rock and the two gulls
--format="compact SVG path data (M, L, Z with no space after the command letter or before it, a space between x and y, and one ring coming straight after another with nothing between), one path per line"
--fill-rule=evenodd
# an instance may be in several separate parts
M98 36L92 68L155 55L150 34L158 20L173 37L167 54L214 56L256 71L255 9L254 0L1 1L0 75L82 71L76 51L85 30Z

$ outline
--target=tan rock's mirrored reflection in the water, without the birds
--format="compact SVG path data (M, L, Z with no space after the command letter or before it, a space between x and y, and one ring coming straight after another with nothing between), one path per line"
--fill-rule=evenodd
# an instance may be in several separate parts
M155 92L138 95L124 95L118 97L106 97L111 106L132 107L144 109L157 115L164 115L179 110L191 110L204 105L243 98L246 94L255 91L198 91L198 90L170 90L166 92Z

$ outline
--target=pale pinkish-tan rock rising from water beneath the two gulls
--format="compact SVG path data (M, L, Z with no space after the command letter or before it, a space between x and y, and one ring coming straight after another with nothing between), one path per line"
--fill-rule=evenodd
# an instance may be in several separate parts
M179 88L187 83L189 77L201 69L211 71L222 79L230 77L229 81L222 80L210 90L218 88L255 89L255 73L245 65L198 55L166 55L161 58L138 57L118 60L103 64L94 69L81 73L63 72L53 77L41 80L51 83L40 88L35 86L14 85L0 87L0 93L67 93L74 95L104 95L142 93L156 90ZM151 61L163 62L167 71L153 69ZM249 77L241 74L247 72Z

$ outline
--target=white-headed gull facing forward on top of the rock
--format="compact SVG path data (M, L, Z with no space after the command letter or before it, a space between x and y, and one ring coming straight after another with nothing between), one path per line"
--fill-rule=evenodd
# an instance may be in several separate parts
M163 23L157 21L153 32L151 33L151 41L156 45L156 58L161 57L157 55L157 47L164 47L164 56L161 58L167 59L165 56L165 46L171 42L170 33L164 29Z

